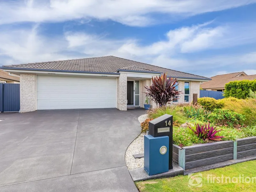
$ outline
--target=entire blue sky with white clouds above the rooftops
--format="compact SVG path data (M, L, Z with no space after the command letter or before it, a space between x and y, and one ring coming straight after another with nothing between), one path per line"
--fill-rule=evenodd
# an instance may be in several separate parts
M256 74L256 0L2 0L0 66L114 55Z

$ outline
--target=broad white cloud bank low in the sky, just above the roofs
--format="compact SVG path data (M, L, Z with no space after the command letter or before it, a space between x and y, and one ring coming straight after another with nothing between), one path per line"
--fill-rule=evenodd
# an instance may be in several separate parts
M254 26L253 23L248 25L252 28ZM243 33L240 36L233 35L236 30L233 26L238 26L238 30ZM202 50L233 47L249 42L255 44L254 30L245 30L243 26L246 25L209 27L209 23L206 23L177 28L167 32L166 39L147 46L141 45L138 39L117 40L107 35L72 31L50 38L42 35L41 28L37 25L33 28L9 28L0 31L0 60L3 65L7 65L114 55L207 77L220 71L226 73L248 70L251 74L256 64L255 50L238 54L223 52L221 55L212 52L211 56L200 53L198 58L187 56ZM205 36L211 36L214 44L212 40L204 42ZM235 40L233 44L230 39Z

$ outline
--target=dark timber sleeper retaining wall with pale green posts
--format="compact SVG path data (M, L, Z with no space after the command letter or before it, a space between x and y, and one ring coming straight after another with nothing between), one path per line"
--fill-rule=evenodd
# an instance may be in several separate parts
M173 161L186 170L251 155L256 155L256 137L183 148L173 145Z

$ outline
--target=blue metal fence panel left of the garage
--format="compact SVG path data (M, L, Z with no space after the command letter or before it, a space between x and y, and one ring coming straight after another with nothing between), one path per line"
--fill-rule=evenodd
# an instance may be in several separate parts
M20 110L20 84L0 84L0 111Z

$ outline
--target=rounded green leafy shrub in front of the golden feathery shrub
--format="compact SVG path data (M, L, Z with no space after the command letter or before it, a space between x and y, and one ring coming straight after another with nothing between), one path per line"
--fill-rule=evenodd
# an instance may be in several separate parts
M220 126L237 126L243 125L245 116L228 109L214 109L210 119Z

